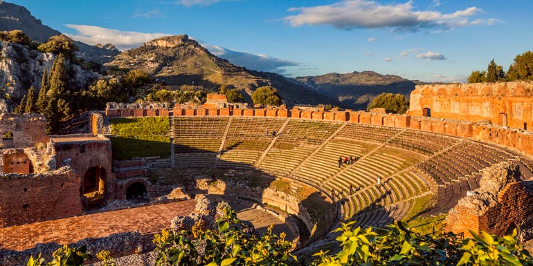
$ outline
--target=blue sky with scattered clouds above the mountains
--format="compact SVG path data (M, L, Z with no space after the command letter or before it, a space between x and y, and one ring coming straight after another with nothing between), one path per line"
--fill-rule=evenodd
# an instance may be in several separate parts
M88 44L188 34L235 64L291 77L374 70L464 82L530 50L533 1L8 0Z

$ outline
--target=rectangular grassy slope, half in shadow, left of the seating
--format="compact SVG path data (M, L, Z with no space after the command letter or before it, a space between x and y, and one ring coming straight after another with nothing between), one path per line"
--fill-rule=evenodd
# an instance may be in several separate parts
M114 160L135 157L170 156L168 117L111 118Z

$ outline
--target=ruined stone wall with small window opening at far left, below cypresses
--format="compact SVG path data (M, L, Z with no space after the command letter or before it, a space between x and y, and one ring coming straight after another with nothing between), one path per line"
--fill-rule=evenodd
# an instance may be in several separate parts
M35 113L0 114L0 135L8 131L13 134L9 143L2 143L4 148L24 148L35 146L37 143L48 142L48 135L44 132L46 118L43 115ZM1 140L1 138L0 138ZM12 142L11 142L12 141Z

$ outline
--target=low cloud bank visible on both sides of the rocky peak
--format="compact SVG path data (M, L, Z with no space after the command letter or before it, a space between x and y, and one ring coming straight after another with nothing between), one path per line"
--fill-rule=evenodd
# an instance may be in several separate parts
M141 46L147 41L152 41L163 36L165 33L145 33L134 31L114 30L98 26L73 25L67 24L69 28L76 30L74 35L69 35L76 41L82 41L86 44L114 44L119 50L127 50ZM190 37L190 39L194 39ZM199 41L201 46L208 49L210 53L217 57L222 57L232 64L244 66L252 70L269 71L283 73L286 66L300 66L300 64L284 59L269 57L267 55L240 52L226 49L221 46L204 44Z

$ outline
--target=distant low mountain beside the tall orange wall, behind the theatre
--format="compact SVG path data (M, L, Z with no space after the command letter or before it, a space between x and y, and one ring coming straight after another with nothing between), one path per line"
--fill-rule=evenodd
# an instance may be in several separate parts
M423 83L413 82L397 75L381 75L373 71L329 73L296 77L296 80L314 88L318 93L334 97L343 106L353 109L365 109L374 97L384 92L401 93L409 97L415 85Z

